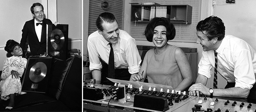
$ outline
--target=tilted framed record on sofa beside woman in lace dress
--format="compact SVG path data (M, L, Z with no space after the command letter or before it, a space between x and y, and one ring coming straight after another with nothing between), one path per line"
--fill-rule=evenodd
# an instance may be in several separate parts
M21 91L45 93L52 57L28 58Z

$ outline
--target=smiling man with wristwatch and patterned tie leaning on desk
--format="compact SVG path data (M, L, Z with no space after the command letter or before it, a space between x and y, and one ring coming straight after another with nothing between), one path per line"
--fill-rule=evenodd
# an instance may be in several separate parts
M256 99L256 52L244 40L225 35L223 21L210 16L196 26L196 35L203 47L198 77L189 88L190 95L224 96ZM206 85L214 69L213 89ZM218 89L217 72L227 80L225 89Z

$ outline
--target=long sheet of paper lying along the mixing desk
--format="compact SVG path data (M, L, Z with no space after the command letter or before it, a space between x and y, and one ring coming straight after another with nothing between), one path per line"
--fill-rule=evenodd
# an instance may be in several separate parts
M145 83L145 82L139 82L139 81L125 81L125 80L118 80L118 79L110 79L108 78L110 81L114 82L114 83L120 83L120 84L124 84L126 86L128 86L129 84L132 85L132 88L139 88L140 86L143 86L143 90L148 90L149 87L151 87L151 89L153 90L154 88L156 88L156 91L160 91L161 88L163 88L163 92L166 92L167 89L170 90L170 92L172 92L173 88L170 85L161 85L161 84L153 84L153 83Z

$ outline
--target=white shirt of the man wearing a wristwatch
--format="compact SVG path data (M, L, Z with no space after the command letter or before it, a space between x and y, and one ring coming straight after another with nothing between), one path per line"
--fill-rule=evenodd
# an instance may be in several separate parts
M232 35L225 35L218 52L218 73L228 82L235 82L235 87L251 89L256 82L256 52L244 40ZM214 67L214 51L202 52L198 73L211 78Z

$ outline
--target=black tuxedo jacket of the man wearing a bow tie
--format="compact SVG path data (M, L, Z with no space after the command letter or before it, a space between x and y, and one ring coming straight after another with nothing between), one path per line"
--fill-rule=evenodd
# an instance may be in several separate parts
M41 41L39 42L38 37L36 35L35 30L35 19L29 20L24 24L24 27L22 29L22 37L20 40L20 47L23 51L23 56L25 57L25 45L28 38L28 44L30 48L30 52L32 55L40 55L44 54L46 52L46 24L52 24L52 21L49 19L43 20L43 26L42 26L42 34L41 34Z

